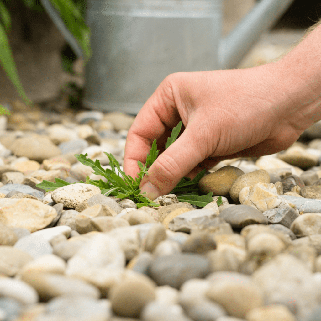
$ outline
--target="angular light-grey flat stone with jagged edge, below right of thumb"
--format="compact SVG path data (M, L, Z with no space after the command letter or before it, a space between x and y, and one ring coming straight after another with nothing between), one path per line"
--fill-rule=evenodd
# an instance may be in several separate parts
M180 214L169 222L169 230L189 233L193 228L205 221L211 221L217 217L212 210L193 210Z

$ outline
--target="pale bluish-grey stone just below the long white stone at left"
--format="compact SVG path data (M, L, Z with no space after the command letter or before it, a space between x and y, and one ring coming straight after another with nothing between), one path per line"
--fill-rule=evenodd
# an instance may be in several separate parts
M50 243L46 239L43 239L41 236L32 235L19 239L14 247L28 253L33 258L51 254L53 251Z

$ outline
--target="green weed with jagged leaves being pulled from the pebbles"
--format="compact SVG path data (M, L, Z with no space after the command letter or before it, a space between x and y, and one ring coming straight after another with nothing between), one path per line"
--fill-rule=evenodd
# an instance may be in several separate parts
M180 128L182 126L182 122L179 122L178 125L173 128L171 137L167 140L169 143L167 147L172 144L176 138L178 137ZM148 175L148 169L152 165L152 163L156 160L158 156L159 150L157 150L156 139L152 143L152 148L146 157L146 163L143 165L140 161L138 161L138 166L141 169L138 174L138 177L132 178L129 175L126 175L125 172L120 168L118 161L115 157L110 153L106 153L109 158L109 165L111 169L104 169L100 165L99 160L91 160L87 158L87 154L76 154L76 158L86 166L90 166L93 169L93 174L101 175L107 179L107 183L102 179L93 180L90 179L89 176L86 178L87 184L91 184L100 188L101 193L106 196L116 196L121 199L130 199L137 204L137 208L142 206L160 206L159 204L153 202L151 199L144 196L144 194L140 194L139 184L144 177L144 175ZM213 202L212 195L210 192L207 195L199 195L198 182L204 176L206 169L203 169L199 174L195 176L195 178L190 179L187 177L183 177L177 186L171 191L171 194L181 193L181 192L190 192L187 194L178 195L177 198L180 202L189 202L190 204L197 205L199 207L204 207L206 204ZM84 183L84 182L80 182ZM65 185L69 185L70 183L56 178L56 183L48 182L43 180L41 183L36 186L42 188L46 191L53 191L58 187L62 187ZM219 196L217 200L218 205L221 202L221 196Z

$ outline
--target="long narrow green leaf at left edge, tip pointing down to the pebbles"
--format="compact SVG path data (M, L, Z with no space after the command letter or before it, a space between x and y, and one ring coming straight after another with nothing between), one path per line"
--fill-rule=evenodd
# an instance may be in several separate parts
M12 52L9 45L8 37L4 31L2 24L0 23L0 65L4 69L15 89L18 91L19 96L27 104L31 104L32 101L28 98L23 90L20 78L13 60Z

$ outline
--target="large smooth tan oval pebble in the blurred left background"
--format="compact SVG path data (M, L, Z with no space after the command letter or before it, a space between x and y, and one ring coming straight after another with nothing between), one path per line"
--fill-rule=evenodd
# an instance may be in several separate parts
M38 162L61 154L60 149L48 138L38 135L17 138L9 149L18 157L25 156Z

